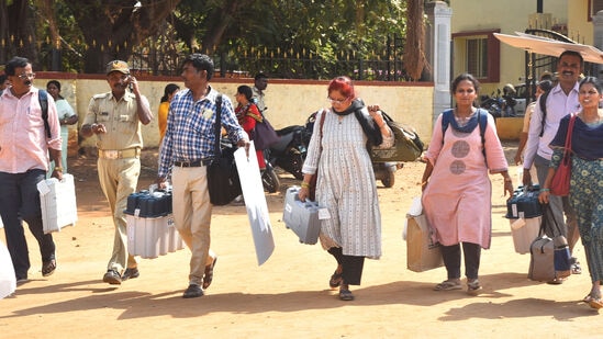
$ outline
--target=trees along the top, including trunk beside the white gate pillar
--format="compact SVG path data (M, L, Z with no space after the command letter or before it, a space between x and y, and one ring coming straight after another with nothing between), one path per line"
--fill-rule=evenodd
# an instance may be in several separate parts
M405 48L405 61L413 79L426 65L423 0L4 0L0 19L1 36L11 38L9 47L0 46L0 60L15 54L16 46L29 48L24 54L30 58L55 65L56 49L68 48L67 56L62 54L63 68L85 72L103 72L108 61L119 58L161 74L191 52L213 54L221 67L254 72L266 70L254 49L278 49L286 52L283 63L265 65L278 67L275 74L283 77L305 77L300 75L305 70L309 76L349 75L366 68L389 74L391 61L399 63L403 44L398 42L406 32L412 48ZM49 37L37 39L35 33ZM391 41L394 50L386 53ZM295 58L288 57L291 53ZM373 64L336 67L346 59ZM311 69L295 65L305 60L314 64Z

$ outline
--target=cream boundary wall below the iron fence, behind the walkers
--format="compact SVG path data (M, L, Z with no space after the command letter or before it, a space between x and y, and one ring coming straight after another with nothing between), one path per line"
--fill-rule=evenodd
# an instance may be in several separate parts
M79 115L80 123L71 128L77 129L83 121L88 104L93 94L108 92L109 86L102 75L70 75L56 72L36 72L34 86L46 88L46 82L57 79L62 83L62 95L71 104ZM175 82L185 88L180 78L138 77L142 93L148 99L154 118L143 126L145 147L157 147L159 127L157 110L164 94L164 87ZM304 125L308 116L328 104L326 88L328 81L280 80L270 79L266 90L266 116L275 128L290 125ZM210 84L228 95L234 103L236 88L241 84L253 86L253 79L220 79ZM355 83L357 95L370 104L379 104L394 121L413 126L420 137L428 143L432 135L433 93L432 82L376 82L358 81ZM236 103L234 103L236 105ZM94 137L83 140L80 146L94 146Z

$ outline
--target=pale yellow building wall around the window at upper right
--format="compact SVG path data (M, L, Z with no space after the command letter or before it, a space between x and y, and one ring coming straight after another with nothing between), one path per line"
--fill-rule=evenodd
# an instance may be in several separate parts
M588 0L571 0L571 3ZM568 0L544 1L544 12L551 13L551 24L568 22ZM470 31L500 30L503 34L524 32L529 24L529 15L536 12L536 0L479 1L451 0L453 34ZM454 45L453 74L466 71L465 50ZM490 56L489 56L490 57ZM525 77L524 52L501 43L500 82L482 83L482 93L488 94L505 83L523 82Z

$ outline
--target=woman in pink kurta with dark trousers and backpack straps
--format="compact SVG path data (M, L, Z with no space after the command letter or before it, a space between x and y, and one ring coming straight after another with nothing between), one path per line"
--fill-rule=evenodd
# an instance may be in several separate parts
M467 293L474 295L481 290L481 249L490 248L492 230L492 185L488 172L502 174L505 195L513 195L494 118L473 106L478 90L479 82L471 75L460 75L453 81L456 108L438 116L425 155L423 211L434 229L435 241L440 244L448 275L435 291L462 289L461 245ZM484 128L480 127L480 120Z

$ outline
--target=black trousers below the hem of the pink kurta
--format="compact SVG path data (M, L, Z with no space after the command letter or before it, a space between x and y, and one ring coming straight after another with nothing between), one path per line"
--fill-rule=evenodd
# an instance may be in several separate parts
M480 270L481 246L472 242L462 242L465 255L465 275L468 279L478 279ZM448 279L460 278L460 245L442 246L442 257Z

